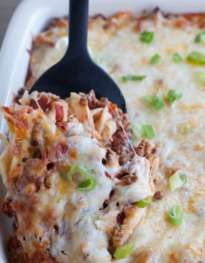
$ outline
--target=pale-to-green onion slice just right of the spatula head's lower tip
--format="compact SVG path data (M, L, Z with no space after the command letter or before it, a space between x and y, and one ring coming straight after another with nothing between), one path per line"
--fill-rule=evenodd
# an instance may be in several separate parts
M133 122L130 126L132 134L137 138L153 139L155 137L152 125L140 125Z

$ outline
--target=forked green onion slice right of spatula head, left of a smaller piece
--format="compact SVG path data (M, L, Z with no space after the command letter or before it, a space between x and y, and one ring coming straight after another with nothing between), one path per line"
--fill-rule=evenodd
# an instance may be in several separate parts
M151 95L143 96L143 101L152 107L155 111L161 110L163 107L166 106L166 102L164 101L164 98L162 97L161 90L158 91L156 97Z

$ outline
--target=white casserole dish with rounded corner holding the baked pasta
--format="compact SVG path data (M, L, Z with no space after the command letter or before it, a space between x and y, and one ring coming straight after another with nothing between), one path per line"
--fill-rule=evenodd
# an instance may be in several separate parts
M146 9L152 11L159 6L164 12L186 13L204 12L203 0L187 1L166 1L166 0L145 0L136 2L134 0L90 0L90 15L102 13L109 16L118 11L132 11L140 14ZM0 51L0 80L1 96L0 104L9 106L11 104L12 92L24 85L29 63L27 49L31 47L32 34L38 34L50 18L67 15L68 0L24 0L17 7L11 18L5 39ZM7 132L5 121L0 115L0 132L4 135ZM2 152L3 145L0 144ZM7 190L1 184L0 199L5 196ZM3 213L0 213L0 263L8 262L6 259L6 244L9 233L12 234L12 222Z

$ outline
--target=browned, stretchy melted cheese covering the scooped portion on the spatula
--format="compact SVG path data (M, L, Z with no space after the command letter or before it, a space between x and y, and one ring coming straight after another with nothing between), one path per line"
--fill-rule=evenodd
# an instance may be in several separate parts
M16 251L20 257L28 252L34 260L35 251L39 257L41 253L43 258L51 256L54 262L110 262L109 242L115 235L115 227L119 228L118 214L125 214L125 233L121 233L123 240L119 241L124 243L144 214L144 210L137 213L135 203L153 196L156 189L153 182L160 176L158 173L155 176L153 170L158 167L158 153L146 158L131 152L132 158L120 165L116 154L109 149L113 160L107 159L106 148L92 138L92 130L87 132L87 126L72 114L67 120L69 103L72 111L76 108L72 113L79 115L79 119L83 114L92 118L89 107L81 106L79 98L73 101L75 97L80 96L71 94L63 101L55 95L34 91L24 95L21 105L1 107L7 123L12 123L0 168L8 187L5 200L9 203L5 204L17 218L14 230L22 246ZM30 107L34 102L41 104L43 99L50 103L42 104L45 108L50 105L45 112L40 105L37 109ZM63 107L65 122L57 122L56 106ZM116 126L107 106L103 114ZM98 120L95 124L102 126L100 116ZM157 149L153 143L146 142L150 151ZM96 185L92 191L78 191L77 185L85 180L79 173L68 180L66 175L74 165L94 178ZM120 173L122 179L115 178ZM126 181L129 177L123 179L124 174L130 176L130 181ZM12 260L15 262L16 258ZM22 262L21 258L18 261Z

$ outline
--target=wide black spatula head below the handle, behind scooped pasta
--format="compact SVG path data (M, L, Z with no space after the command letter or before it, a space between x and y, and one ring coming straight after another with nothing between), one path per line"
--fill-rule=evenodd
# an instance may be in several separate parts
M43 73L29 93L35 90L51 92L65 99L70 92L88 93L91 89L95 91L96 98L107 97L126 112L125 99L116 83L88 56L63 58Z

